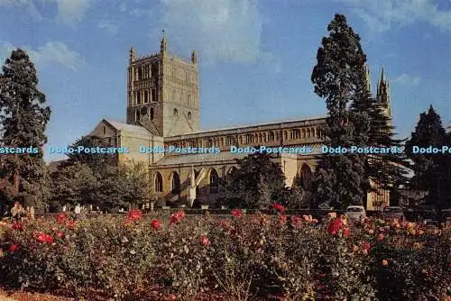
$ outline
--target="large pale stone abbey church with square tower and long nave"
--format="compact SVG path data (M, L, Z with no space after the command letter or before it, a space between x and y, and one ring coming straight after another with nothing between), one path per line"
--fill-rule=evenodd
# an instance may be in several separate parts
M369 71L367 71L369 83ZM199 129L198 52L182 59L168 51L166 37L160 51L139 57L130 50L127 80L126 123L103 119L88 135L97 136L114 147L126 147L129 153L117 154L119 161L142 161L149 166L152 196L163 205L192 205L198 200L215 207L218 179L236 167L236 159L248 153L231 152L239 148L266 147L310 148L305 153L278 153L273 160L281 164L286 185L299 175L308 190L316 169L316 155L324 136L320 131L325 116L299 118L281 123L258 123L226 129ZM378 82L377 99L391 114L390 86L384 77ZM203 148L217 151L180 153L176 151L140 152L141 147L168 150L170 147ZM366 207L389 204L388 191L367 196Z

